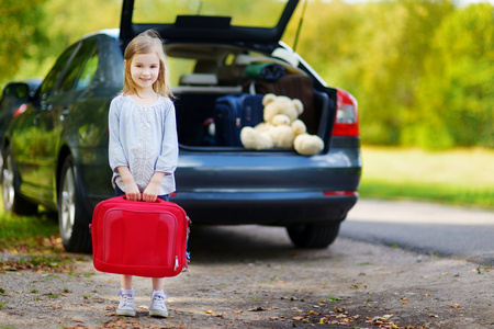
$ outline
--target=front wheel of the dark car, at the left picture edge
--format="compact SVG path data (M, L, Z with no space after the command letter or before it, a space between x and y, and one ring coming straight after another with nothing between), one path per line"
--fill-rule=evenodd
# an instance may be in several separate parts
M37 213L37 204L29 202L18 191L19 179L14 171L12 151L5 148L2 162L2 202L5 213L18 215L34 215Z

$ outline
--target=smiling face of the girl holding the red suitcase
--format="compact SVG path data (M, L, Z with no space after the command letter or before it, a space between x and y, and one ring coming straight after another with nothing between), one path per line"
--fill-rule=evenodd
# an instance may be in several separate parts
M127 65L127 63L125 63ZM131 60L131 77L138 91L151 91L159 76L159 57L155 53L136 54Z

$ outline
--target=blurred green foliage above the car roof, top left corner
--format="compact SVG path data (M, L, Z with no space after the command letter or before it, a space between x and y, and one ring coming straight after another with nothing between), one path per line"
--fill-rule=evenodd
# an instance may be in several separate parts
M2 0L0 87L12 79L44 77L81 36L119 27L121 8L122 0Z

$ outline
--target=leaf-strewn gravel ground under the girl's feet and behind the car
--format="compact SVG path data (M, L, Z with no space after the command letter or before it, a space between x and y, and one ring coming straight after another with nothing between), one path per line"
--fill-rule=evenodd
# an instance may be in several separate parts
M61 273L0 271L0 328L493 328L494 271L460 259L338 238L291 247L284 229L193 227L190 269L166 281L170 317L115 315L119 275L90 256ZM0 257L20 258L2 253Z

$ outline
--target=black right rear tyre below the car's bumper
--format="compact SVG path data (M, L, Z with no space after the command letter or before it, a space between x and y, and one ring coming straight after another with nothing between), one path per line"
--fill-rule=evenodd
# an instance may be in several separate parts
M326 248L338 236L340 222L299 224L287 227L293 245L300 248Z

